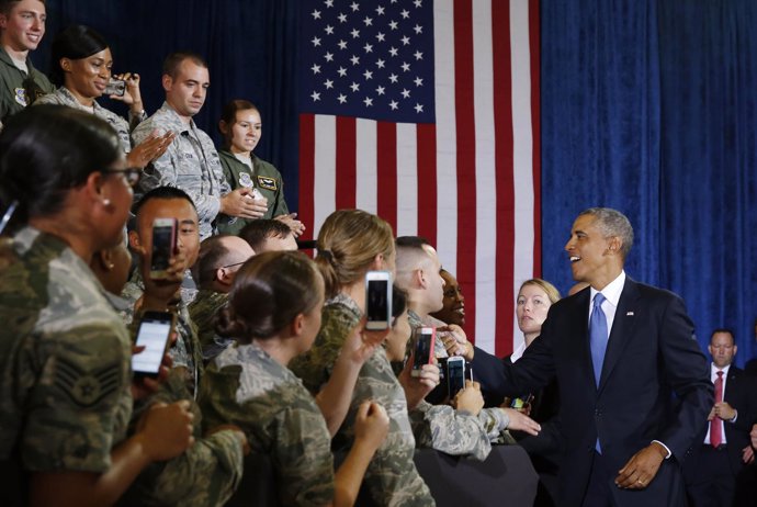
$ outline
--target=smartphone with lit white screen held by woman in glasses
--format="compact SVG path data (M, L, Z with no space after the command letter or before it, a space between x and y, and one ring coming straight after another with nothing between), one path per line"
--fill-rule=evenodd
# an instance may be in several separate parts
M145 347L139 353L132 356L132 371L134 376L157 378L160 364L168 349L171 330L173 329L173 314L170 312L145 312L137 330L137 347Z

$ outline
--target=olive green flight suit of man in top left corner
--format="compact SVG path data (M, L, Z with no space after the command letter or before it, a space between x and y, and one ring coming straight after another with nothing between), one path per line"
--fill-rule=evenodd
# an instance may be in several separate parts
M23 110L45 93L53 93L55 87L47 76L38 71L26 58L25 74L15 66L5 49L0 47L0 122ZM29 95L32 95L31 98Z

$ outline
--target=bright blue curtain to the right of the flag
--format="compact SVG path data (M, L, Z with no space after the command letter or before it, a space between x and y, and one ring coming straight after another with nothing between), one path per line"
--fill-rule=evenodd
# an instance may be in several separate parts
M757 2L542 1L543 273L583 209L622 210L640 281L687 301L704 349L757 352Z

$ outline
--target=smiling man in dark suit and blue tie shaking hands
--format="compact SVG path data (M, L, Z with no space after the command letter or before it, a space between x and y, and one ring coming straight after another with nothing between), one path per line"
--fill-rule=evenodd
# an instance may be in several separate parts
M683 302L625 275L632 244L622 213L583 212L565 250L573 278L590 286L552 305L515 364L463 343L489 391L517 395L557 378L566 448L560 505L685 505L680 460L713 404Z

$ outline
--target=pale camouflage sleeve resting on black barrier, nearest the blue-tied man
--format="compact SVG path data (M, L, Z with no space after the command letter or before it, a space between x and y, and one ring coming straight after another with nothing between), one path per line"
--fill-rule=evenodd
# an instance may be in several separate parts
M416 444L452 455L484 461L492 443L478 417L457 413L449 405L421 402L410 413Z

